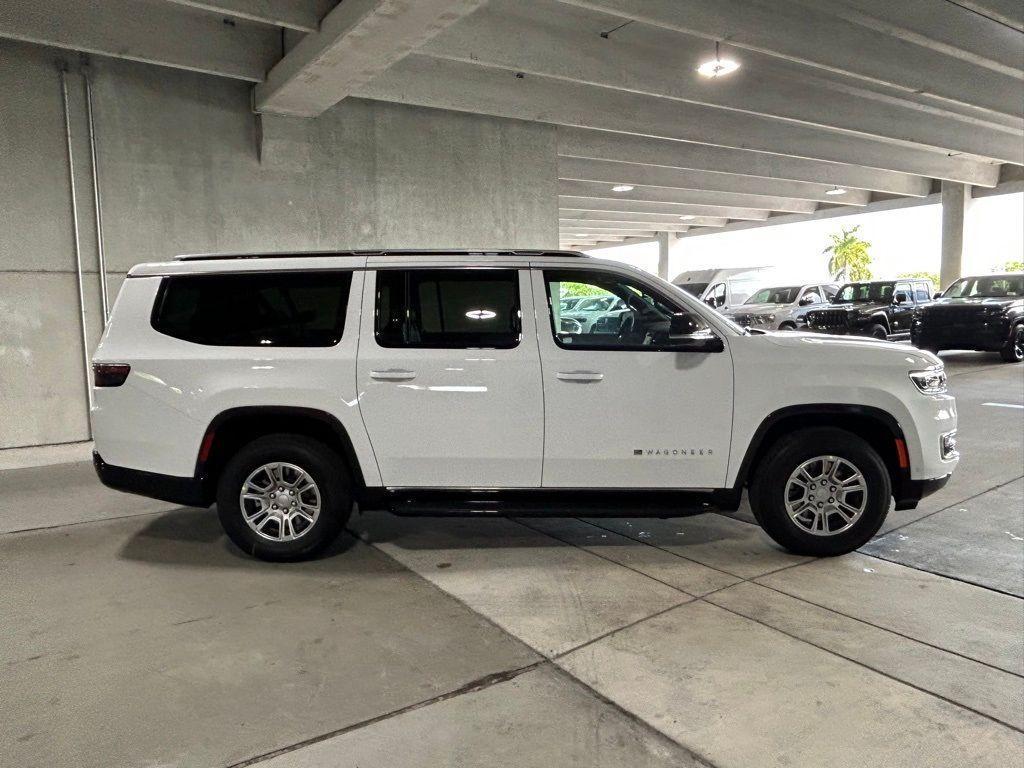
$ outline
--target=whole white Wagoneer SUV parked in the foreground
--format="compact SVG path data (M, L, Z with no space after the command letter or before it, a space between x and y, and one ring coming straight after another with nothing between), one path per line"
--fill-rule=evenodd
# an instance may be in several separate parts
M561 323L607 292L608 332ZM794 371L799 371L798 376ZM580 254L185 256L134 267L94 357L100 479L217 504L231 540L308 556L353 504L401 514L736 509L794 552L866 542L956 465L939 359L750 333ZM607 439L581 441L581 433Z

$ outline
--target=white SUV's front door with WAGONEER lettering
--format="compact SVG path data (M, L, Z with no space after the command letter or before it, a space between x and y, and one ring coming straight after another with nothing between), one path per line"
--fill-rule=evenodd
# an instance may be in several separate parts
M695 337L713 331L663 291L613 267L535 268L545 487L724 486L732 358L674 350L673 314L687 313ZM625 308L589 329L561 322L563 297L608 294Z

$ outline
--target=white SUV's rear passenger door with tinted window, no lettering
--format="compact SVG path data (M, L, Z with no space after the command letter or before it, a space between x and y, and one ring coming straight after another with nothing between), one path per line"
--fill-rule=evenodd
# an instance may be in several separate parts
M364 315L356 376L384 485L540 486L544 400L528 275L401 262L368 273L362 305L374 319Z

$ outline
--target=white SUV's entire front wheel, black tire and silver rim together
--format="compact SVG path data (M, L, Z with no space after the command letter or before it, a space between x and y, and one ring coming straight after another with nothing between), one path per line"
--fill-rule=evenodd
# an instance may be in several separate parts
M816 427L775 443L751 488L755 517L772 539L801 555L852 552L882 526L892 481L865 440Z

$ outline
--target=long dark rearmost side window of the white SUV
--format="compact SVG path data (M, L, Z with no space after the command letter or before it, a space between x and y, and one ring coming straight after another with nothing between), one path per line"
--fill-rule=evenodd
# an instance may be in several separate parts
M341 341L348 271L165 278L153 327L196 344L329 347Z

